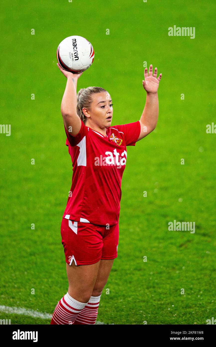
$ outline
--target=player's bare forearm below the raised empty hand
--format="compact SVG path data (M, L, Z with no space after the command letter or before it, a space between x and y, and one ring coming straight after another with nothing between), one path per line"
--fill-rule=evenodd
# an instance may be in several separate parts
M158 119L158 95L157 93L147 93L146 103L140 121L148 130L156 127ZM151 130L151 131L152 131Z

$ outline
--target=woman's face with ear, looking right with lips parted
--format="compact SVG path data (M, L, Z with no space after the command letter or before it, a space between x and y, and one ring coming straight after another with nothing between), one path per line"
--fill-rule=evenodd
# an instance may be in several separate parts
M113 108L111 96L108 92L101 92L91 95L92 103L90 109L83 108L86 116L86 125L97 125L104 129L111 126Z

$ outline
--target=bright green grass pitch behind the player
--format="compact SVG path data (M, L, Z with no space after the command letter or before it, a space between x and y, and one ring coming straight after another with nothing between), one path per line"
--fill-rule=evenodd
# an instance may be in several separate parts
M140 119L144 61L162 73L157 127L127 147L118 257L97 321L206 324L216 303L216 134L206 133L216 122L215 2L24 0L2 6L0 122L11 124L11 135L0 134L0 306L52 314L68 290L60 225L72 166L60 113L66 78L56 49L65 37L80 35L92 43L95 59L78 90L109 91L112 125ZM174 25L195 27L195 38L168 36ZM174 220L195 222L195 233L168 231ZM4 311L0 319L50 324Z

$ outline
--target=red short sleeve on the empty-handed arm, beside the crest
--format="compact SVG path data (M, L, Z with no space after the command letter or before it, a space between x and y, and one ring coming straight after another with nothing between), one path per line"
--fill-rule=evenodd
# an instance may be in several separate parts
M126 146L135 146L141 129L139 120L133 123L115 125L113 128L123 133Z

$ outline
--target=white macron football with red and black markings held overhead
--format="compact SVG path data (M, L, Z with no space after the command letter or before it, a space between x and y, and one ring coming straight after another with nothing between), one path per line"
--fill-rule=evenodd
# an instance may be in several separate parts
M72 73L87 70L94 60L92 44L82 36L69 36L57 48L57 60L61 67Z

